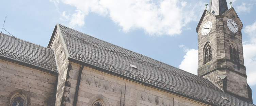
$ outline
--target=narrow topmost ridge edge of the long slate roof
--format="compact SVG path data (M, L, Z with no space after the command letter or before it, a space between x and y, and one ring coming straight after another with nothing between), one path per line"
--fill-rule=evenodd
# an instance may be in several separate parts
M64 25L61 25L61 26L64 26ZM66 26L64 26L64 27L66 27ZM66 27L66 28L69 28L69 27ZM77 31L77 30L72 29L72 28L69 28L69 29L70 29L70 30ZM82 34L85 34L85 33L80 32L80 31L77 31L77 32L82 33ZM67 34L68 34L68 33L67 33ZM85 34L85 35L90 36L90 37L93 37L93 36L88 35L88 34ZM100 40L100 41L102 41L102 42L106 42L106 41L103 41L103 40L101 40L101 39L99 39L99 38L96 38L96 37L93 37L93 38L98 39L98 40ZM106 43L109 43L109 42L106 42ZM109 44L112 44L112 43L109 43ZM113 46L120 47L120 46L115 45L115 44L112 44L112 45L113 45ZM145 56L145 55L143 55L143 54L140 54L140 53L137 53L137 52L131 51L131 50L126 49L126 48L123 48L123 47L120 47L120 48L125 49L125 50L130 51L130 52L133 52L133 53L136 53L136 54L139 54L139 55L142 55L142 56ZM165 64L165 65L169 65L170 67L173 67L173 68L179 69L179 68L177 68L177 67L174 67L174 66L172 66L172 65L170 65L170 64L167 64L167 63L161 62L161 61L156 60L156 59L154 59L154 58L151 58L151 57L148 57L148 56L145 56L145 57L150 58L150 59L153 59L153 60L155 60L155 61L157 61L157 62L160 62L160 63L163 63L163 64ZM180 70L180 71L183 71L183 72L186 72L186 73L189 73L189 72L187 72L187 71L185 71L185 70L182 70L182 69L179 69L179 70ZM194 74L192 74L192 73L189 73L189 74L194 75ZM195 76L197 76L197 75L195 75ZM200 76L197 76L197 77L200 77ZM200 78L203 78L203 77L200 77Z

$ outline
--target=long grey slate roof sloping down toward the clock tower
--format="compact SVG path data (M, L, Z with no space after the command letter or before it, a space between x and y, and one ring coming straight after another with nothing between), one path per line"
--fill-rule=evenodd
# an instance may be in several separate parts
M140 80L148 85L217 106L255 106L219 89L209 80L175 68L139 53L102 41L93 36L57 24L70 58L106 69L117 75ZM70 48L69 48L70 47ZM135 65L138 70L130 67ZM224 100L226 97L231 102Z

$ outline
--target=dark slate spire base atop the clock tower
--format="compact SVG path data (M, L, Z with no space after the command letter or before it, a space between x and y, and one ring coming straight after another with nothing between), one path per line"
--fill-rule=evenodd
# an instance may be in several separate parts
M222 15L228 10L226 0L210 0L209 11L215 15Z

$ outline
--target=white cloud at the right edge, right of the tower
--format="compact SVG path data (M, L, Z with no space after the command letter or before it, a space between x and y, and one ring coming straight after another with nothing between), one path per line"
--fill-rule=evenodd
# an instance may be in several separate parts
M256 84L256 22L244 28L250 41L243 42L244 65L247 73L247 83L250 86Z

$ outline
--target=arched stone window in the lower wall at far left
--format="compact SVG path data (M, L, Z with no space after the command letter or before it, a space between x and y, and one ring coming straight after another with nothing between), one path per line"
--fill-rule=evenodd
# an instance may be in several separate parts
M28 106L30 104L30 97L23 89L11 92L7 98L10 100L9 106Z

